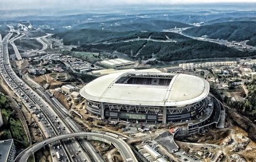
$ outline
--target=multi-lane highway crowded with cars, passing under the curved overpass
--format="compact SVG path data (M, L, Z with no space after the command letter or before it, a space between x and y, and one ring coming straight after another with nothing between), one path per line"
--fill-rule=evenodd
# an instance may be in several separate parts
M30 88L19 77L17 77L15 72L12 70L11 64L9 63L9 54L7 49L7 44L9 43L9 39L11 38L11 36L12 33L9 33L2 39L0 43L0 67L2 78L6 81L7 85L9 85L11 90L13 90L16 95L18 95L23 100L23 103L28 108L30 108L31 113L38 112L36 113L38 114L38 118L40 118L38 119L38 121L40 121L38 124L43 130L43 135L45 135L46 137L53 137L59 134L69 134L70 130L68 128L64 128L66 124L64 124L61 118L58 119L58 126L53 123L54 117L56 119L56 116L58 117L58 114L56 114L53 109L51 109L49 104L46 103L46 101L43 100L40 95L35 93L32 88ZM63 155L61 157L62 161L69 161L68 156L70 157L71 155L77 153L77 151L80 149L80 145L76 140L74 140L74 142L72 143L64 143L64 147L61 147L60 149L58 149L58 146L61 146L61 143L53 143L52 147L56 149L54 150L54 153L58 151L60 155ZM66 148L67 154L64 148ZM51 150L53 149L51 148ZM90 161L89 156L83 153L83 151L81 151L81 153L79 153L79 155L77 155L75 159L71 159L71 161L75 162L83 160Z

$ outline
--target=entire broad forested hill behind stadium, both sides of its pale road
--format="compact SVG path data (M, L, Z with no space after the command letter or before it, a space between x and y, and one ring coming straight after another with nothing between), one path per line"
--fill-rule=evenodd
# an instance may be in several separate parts
M188 59L254 56L224 45L198 41L171 32L110 32L105 30L78 30L59 33L67 45L80 46L73 51L108 51L127 54L130 59L177 61ZM150 38L150 40L148 40ZM127 41L129 40L129 41ZM176 42L172 42L174 40Z

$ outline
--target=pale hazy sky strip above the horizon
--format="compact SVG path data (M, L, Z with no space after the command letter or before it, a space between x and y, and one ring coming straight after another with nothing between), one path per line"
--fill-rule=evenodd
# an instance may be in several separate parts
M218 2L255 2L256 0L0 0L0 10L6 9L97 9L129 5L172 5Z

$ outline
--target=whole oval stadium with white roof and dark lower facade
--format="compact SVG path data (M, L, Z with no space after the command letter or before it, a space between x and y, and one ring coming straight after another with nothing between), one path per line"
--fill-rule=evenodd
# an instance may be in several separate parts
M197 119L208 106L209 83L193 75L131 71L105 75L80 90L101 119L166 124Z

